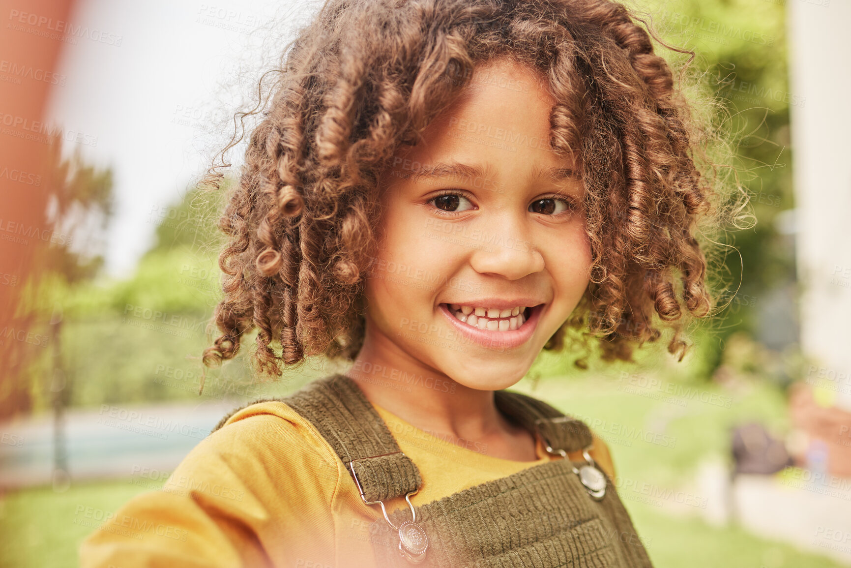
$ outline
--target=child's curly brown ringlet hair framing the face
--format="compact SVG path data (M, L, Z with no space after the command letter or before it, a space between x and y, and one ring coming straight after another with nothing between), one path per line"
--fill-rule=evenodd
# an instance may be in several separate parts
M557 100L551 149L581 156L591 284L545 349L578 330L603 359L631 360L660 337L655 312L682 360L686 318L714 304L693 233L715 192L695 165L694 112L648 29L608 0L325 3L285 49L268 99L241 113L262 118L219 222L221 335L203 364L232 359L253 328L254 365L268 375L281 361L357 356L380 175L497 57L542 73ZM224 180L209 170L207 183Z

